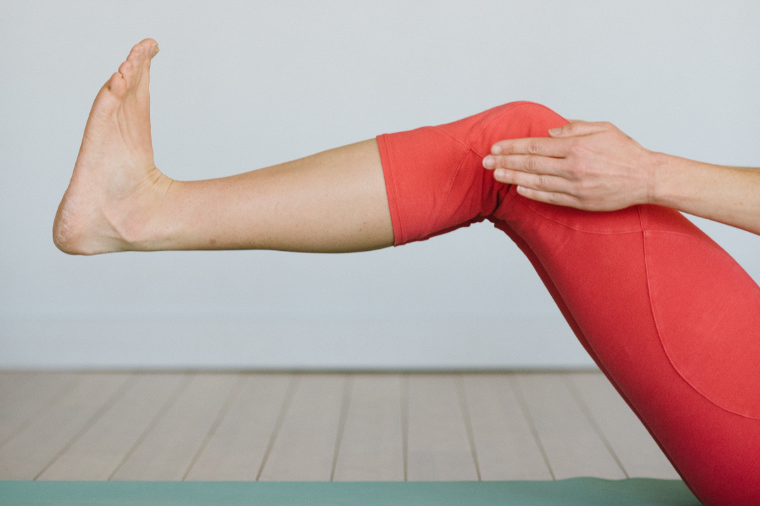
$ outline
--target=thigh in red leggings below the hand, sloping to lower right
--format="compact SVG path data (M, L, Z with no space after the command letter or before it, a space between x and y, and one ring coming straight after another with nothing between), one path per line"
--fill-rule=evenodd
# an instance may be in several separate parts
M760 291L679 212L524 199L530 247L598 362L705 504L760 504Z

